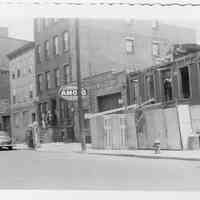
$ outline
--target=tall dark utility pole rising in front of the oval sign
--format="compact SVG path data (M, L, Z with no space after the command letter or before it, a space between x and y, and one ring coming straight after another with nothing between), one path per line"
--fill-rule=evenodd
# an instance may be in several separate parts
M81 96L81 68L80 68L80 41L79 41L79 19L75 19L75 40L76 40L76 79L77 79L77 95L78 95L78 117L79 117L79 134L81 136L81 150L86 151L85 134L83 132L83 107Z

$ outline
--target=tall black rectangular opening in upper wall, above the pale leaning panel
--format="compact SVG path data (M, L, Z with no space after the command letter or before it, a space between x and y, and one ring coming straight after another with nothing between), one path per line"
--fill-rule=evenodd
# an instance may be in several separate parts
M181 97L187 99L190 97L190 79L188 67L180 68L180 76Z

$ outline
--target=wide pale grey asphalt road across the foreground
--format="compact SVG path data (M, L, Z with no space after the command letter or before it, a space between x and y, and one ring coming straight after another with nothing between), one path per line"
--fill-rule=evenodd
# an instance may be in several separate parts
M0 189L200 190L200 162L0 151Z

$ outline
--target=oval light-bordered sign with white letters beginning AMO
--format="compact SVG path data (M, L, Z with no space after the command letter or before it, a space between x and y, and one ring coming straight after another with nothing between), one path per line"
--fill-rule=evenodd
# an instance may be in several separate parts
M77 86L69 86L64 85L61 86L61 88L58 91L58 95L68 101L76 101L78 99L78 88ZM81 96L85 97L87 96L87 89L82 88L81 89Z

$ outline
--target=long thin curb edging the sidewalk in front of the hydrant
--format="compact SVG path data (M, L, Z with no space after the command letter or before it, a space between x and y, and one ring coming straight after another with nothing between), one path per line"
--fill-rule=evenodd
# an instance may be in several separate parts
M87 154L89 154L89 155L102 155L102 156L121 156L121 157L146 158L146 159L200 161L200 158L181 158L181 157L151 156L151 155L137 155L137 154L112 154L112 153L92 153L92 152L87 152Z

